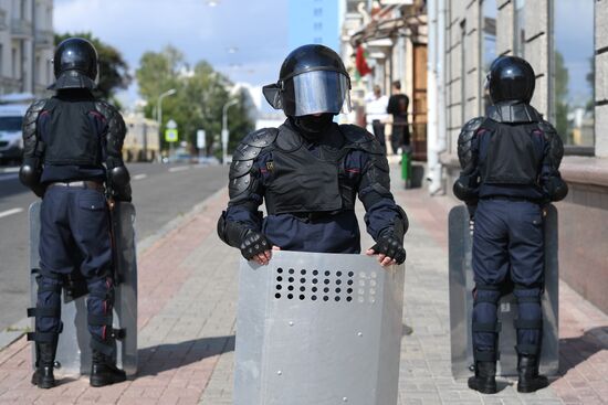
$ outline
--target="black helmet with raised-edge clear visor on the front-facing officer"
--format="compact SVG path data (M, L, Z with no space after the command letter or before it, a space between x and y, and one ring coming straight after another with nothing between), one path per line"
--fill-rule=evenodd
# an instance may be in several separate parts
M279 82L264 97L285 115L339 114L350 109L350 78L337 53L323 45L300 46L285 58Z

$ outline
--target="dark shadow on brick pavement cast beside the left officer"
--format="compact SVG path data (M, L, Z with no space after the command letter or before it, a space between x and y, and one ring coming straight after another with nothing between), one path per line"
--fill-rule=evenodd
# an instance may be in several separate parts
M234 350L234 335L201 338L139 349L137 377L156 375Z

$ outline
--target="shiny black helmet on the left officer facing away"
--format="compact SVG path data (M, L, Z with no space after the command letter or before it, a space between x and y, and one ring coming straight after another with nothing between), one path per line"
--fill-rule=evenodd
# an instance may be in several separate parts
M95 88L97 77L97 51L87 40L63 40L53 56L55 83L49 89Z

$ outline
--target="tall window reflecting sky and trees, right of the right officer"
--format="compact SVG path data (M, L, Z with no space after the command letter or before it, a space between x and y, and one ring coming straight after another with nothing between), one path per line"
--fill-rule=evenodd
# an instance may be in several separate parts
M594 0L554 3L555 125L566 146L594 147Z

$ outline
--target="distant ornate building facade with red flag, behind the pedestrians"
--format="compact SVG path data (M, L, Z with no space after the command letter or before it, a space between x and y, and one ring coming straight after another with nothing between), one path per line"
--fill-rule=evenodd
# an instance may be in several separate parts
M340 54L349 71L355 114L350 121L366 125L365 97L374 85L391 95L394 82L409 97L413 158L427 159L427 14L421 0L343 0ZM357 53L370 72L361 76ZM391 125L386 126L390 137Z

